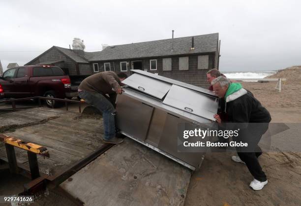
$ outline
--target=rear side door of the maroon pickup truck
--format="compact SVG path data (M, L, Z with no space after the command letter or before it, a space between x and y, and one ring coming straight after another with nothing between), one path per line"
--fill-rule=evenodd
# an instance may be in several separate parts
M20 67L16 73L16 78L13 79L16 97L30 97L28 68Z

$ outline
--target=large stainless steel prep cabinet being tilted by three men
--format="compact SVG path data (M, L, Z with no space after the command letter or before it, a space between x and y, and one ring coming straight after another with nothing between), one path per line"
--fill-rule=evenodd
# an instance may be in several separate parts
M127 87L117 98L120 132L191 170L202 163L202 153L178 152L178 125L209 125L218 98L209 90L132 69L122 81Z

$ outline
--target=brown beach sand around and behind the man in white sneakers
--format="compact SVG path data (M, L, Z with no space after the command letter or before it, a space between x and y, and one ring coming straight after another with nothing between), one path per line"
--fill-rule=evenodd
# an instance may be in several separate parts
M285 144L294 144L292 137L301 134L301 66L280 70L267 78L286 78L282 91L274 89L276 82L243 82L271 113L272 122L291 124L295 131L283 133ZM186 206L300 206L301 145L298 151L264 152L259 162L269 183L261 191L253 191L253 179L246 166L231 161L235 152L207 154L201 169L194 172L185 200ZM293 148L293 147L289 147Z

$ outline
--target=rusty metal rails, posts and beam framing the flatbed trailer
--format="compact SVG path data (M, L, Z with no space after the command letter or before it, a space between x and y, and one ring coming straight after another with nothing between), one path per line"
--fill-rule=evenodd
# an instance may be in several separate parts
M65 102L65 107L66 110L68 110L68 103L79 103L79 113L82 113L81 111L81 104L85 103L85 101L74 101L74 100L65 100L65 99L56 99L56 98L46 98L46 97L30 97L30 98L21 98L21 99L10 99L10 100L1 100L0 103L12 103L12 108L10 110L16 111L18 109L26 109L26 108L31 108L31 107L21 107L17 108L16 107L16 102L19 101L27 101L27 100L34 100L38 99L39 105L38 106L33 106L33 107L40 107L42 106L41 100L53 100L53 101L59 101L59 102ZM52 104L54 105L54 104ZM7 110L7 109L0 109L1 110ZM0 140L3 140L4 137L7 137L5 135L0 134ZM16 155L15 155L15 150L14 150L14 145L8 144L6 142L5 147L8 155L8 164L9 164L9 169L11 172L14 173L20 173L26 177L31 178L32 180L29 183L24 184L24 192L20 193L19 195L33 195L36 194L40 191L44 191L46 188L46 185L49 186L49 188L55 188L60 185L63 181L68 179L70 176L87 166L90 162L95 160L97 157L99 157L101 154L106 152L108 149L114 146L114 144L104 144L97 150L91 152L88 156L78 160L76 163L74 163L72 166L67 168L64 171L61 171L60 173L54 175L54 176L48 176L43 173L39 173L38 171L38 162L36 158L36 151L33 153L28 149L28 157L29 157L29 162L30 162L30 167L27 167L25 165L22 165L20 163L17 163L16 161ZM29 142L23 142L23 145ZM18 146L20 147L20 146ZM26 146L25 146L26 147ZM25 147L20 147L22 149L25 149ZM46 147L44 148L43 151L46 151ZM39 155L51 155L47 152L41 153ZM1 159L1 161L3 161ZM29 172L30 171L30 172ZM63 192L63 190L60 190ZM68 194L66 194L68 195ZM73 200L73 199L71 199ZM83 205L79 200L73 200L73 202L77 205Z

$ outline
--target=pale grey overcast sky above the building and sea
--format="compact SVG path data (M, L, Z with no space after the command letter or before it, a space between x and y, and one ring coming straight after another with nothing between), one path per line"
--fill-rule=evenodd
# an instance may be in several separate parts
M0 0L0 61L26 64L53 45L86 51L219 33L220 70L301 65L300 0Z

